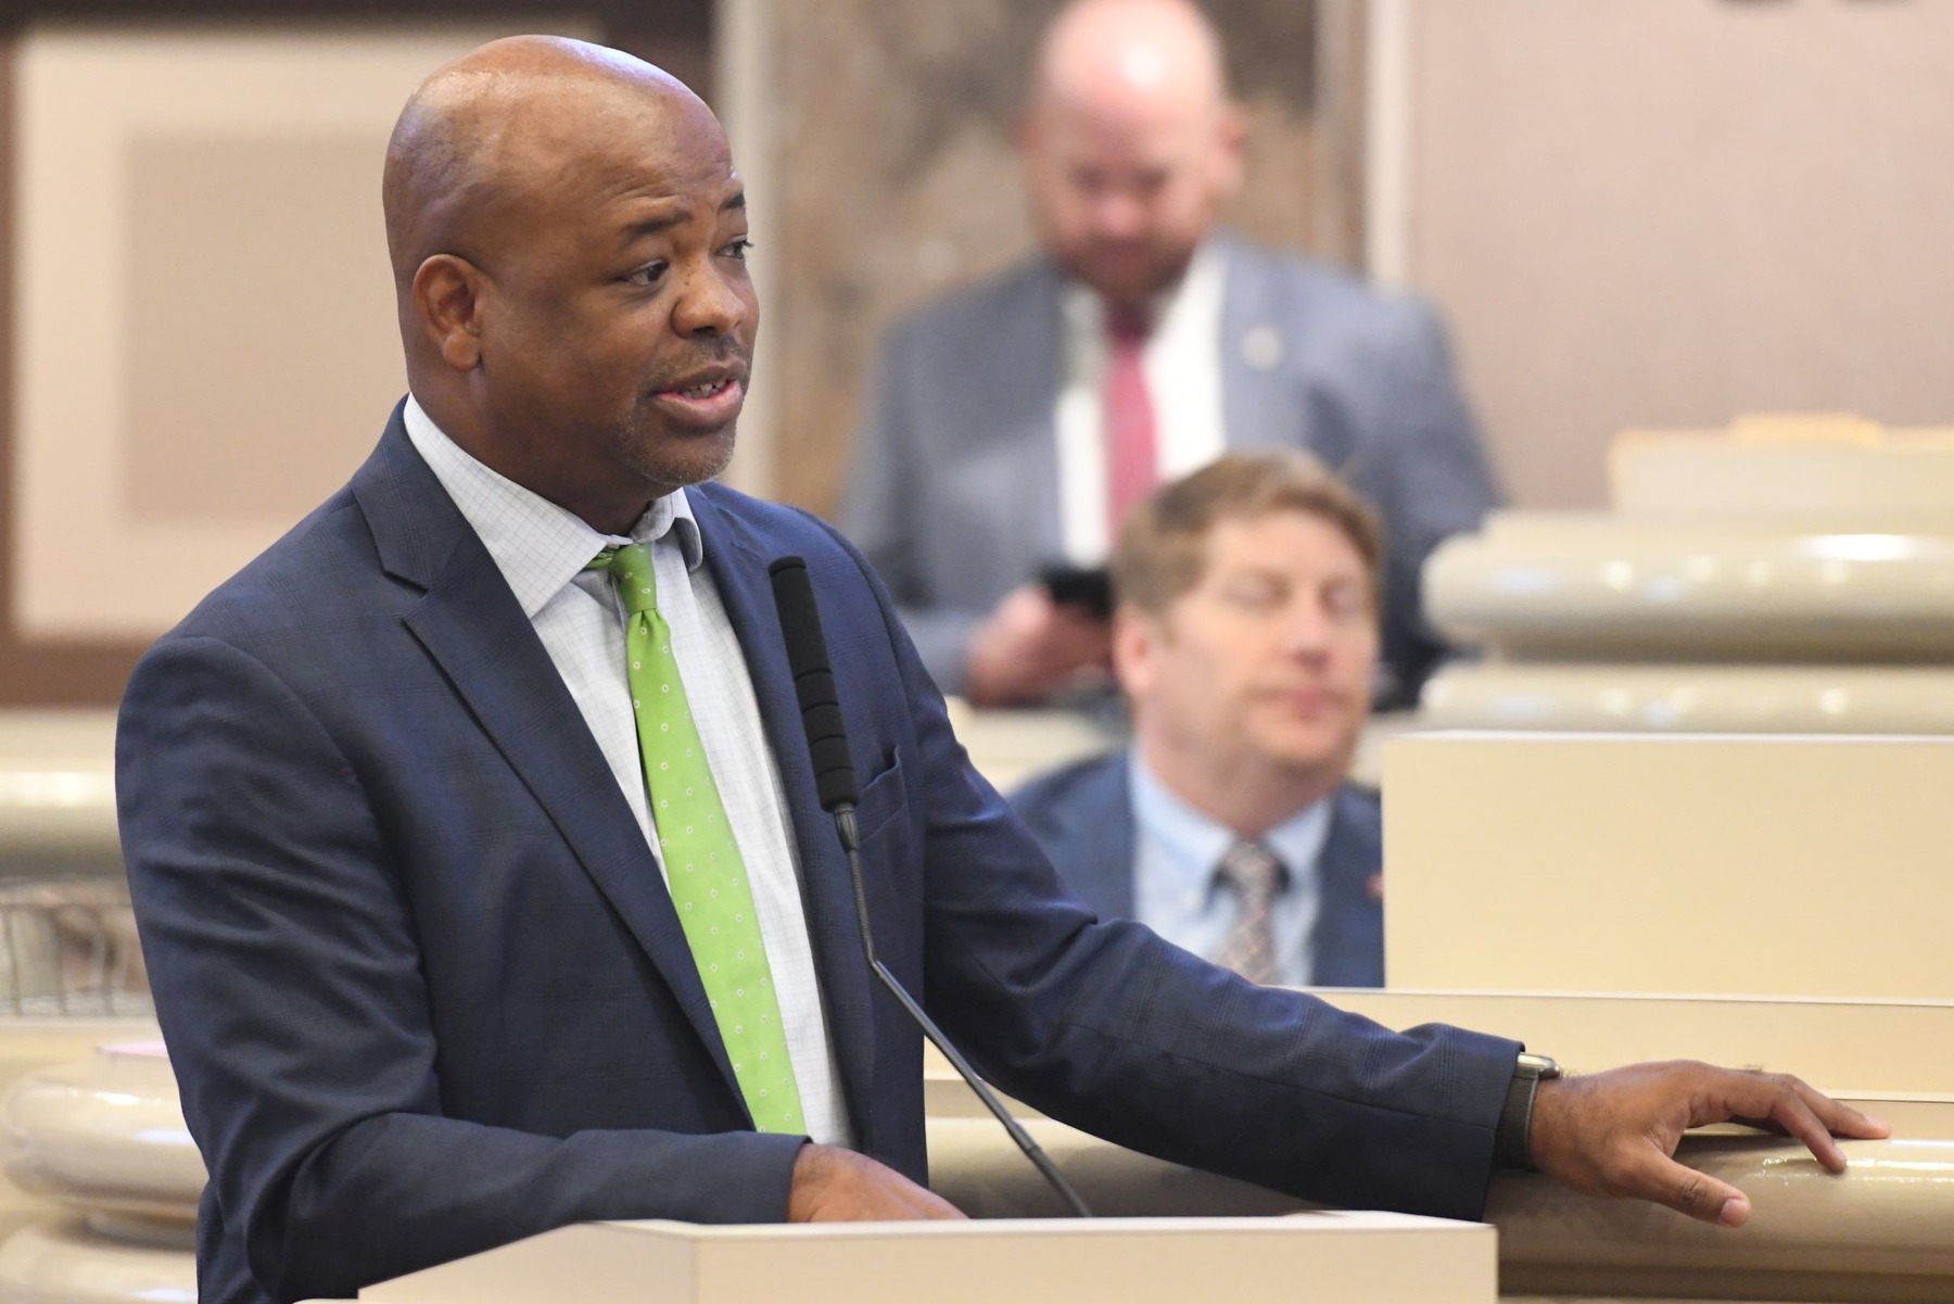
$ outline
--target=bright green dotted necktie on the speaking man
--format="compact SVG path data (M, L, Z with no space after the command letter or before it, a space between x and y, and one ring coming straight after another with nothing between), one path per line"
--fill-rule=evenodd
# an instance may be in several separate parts
M686 929L692 962L733 1058L733 1075L752 1122L762 1132L805 1132L801 1089L787 1060L774 974L760 942L746 864L705 762L705 745L686 704L672 655L672 630L658 616L658 581L651 547L606 547L590 563L608 569L623 598L625 663L637 716L637 755L664 850L672 905Z

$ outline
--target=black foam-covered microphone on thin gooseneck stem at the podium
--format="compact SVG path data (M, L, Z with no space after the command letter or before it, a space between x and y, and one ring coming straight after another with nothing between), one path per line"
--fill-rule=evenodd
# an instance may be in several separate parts
M842 717L840 694L834 692L834 673L828 669L828 641L821 633L821 608L815 606L815 587L807 579L807 563L799 557L780 557L766 573L774 579L780 635L787 645L793 694L801 700L801 725L807 729L807 755L815 764L815 788L821 794L821 809L834 815L834 829L842 839L842 850L848 852L848 878L854 886L856 923L862 929L862 954L868 958L868 968L875 972L875 978L889 989L889 995L909 1011L909 1017L936 1044L936 1050L944 1052L944 1058L969 1083L977 1099L985 1103L985 1108L1004 1124L1004 1132L1018 1144L1024 1157L1045 1175L1051 1189L1059 1193L1077 1216L1090 1218L1092 1210L1079 1198L1073 1185L1065 1181L1051 1155L1010 1116L997 1099L997 1093L977 1077L969 1062L950 1044L944 1030L903 989L903 983L895 979L889 966L875 958L875 936L868 925L868 891L862 886L860 831L854 819L860 788L854 776L854 757L848 749L848 721Z

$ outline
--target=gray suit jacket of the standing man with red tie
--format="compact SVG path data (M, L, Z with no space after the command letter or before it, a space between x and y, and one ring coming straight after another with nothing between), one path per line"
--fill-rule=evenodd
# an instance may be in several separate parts
M1385 696L1407 696L1444 651L1421 614L1419 569L1499 499L1444 330L1417 299L1215 239L1227 446L1309 450L1378 506L1383 661L1399 686ZM973 626L1061 553L1061 285L1038 258L932 303L883 344L842 530L944 692L963 688Z

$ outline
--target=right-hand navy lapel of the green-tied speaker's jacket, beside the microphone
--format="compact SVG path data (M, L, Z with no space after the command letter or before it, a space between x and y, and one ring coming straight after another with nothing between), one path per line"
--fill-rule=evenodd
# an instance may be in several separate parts
M705 543L705 565L713 573L719 600L746 659L746 674L752 678L754 700L760 704L766 741L774 751L774 764L780 766L780 782L787 794L787 813L801 866L801 905L807 913L815 966L821 972L828 1038L840 1065L856 1148L870 1152L873 1148L873 1120L868 1103L875 1069L871 976L862 958L848 858L834 831L834 819L821 809L815 796L815 772L807 757L801 704L793 692L793 674L787 669L780 633L780 612L774 606L774 588L766 573L774 557L768 555L770 549L752 540L750 530L743 528L715 495L694 491L688 497L700 524L700 538ZM860 739L856 741L860 743Z

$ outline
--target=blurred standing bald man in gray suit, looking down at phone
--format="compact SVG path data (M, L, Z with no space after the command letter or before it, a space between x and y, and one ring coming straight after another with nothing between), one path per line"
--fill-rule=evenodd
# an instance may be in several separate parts
M1497 491L1442 328L1215 227L1245 135L1221 65L1186 0L1067 6L1020 137L1043 254L885 342L842 526L946 692L1038 702L1104 667L1104 618L1041 571L1100 565L1153 483L1264 446L1309 450L1383 518L1383 702L1444 651L1419 569Z

